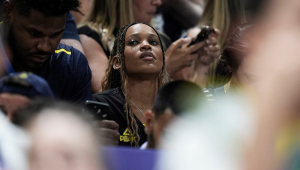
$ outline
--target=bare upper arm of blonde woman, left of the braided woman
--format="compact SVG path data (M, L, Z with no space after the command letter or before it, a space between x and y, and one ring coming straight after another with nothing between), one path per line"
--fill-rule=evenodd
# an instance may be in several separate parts
M85 56L92 71L92 92L101 91L101 82L108 67L108 59L101 46L92 38L80 34Z

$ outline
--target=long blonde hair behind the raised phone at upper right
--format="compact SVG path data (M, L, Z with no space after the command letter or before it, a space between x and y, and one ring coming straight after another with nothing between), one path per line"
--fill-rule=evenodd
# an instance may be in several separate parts
M235 27L246 22L243 1L241 0L207 0L206 7L198 26L208 25L220 30L218 44L221 48ZM215 86L217 60L208 71L207 87Z

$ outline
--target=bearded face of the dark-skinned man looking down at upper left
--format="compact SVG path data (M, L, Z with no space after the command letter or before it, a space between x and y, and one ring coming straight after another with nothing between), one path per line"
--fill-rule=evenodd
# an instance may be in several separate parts
M55 52L63 35L67 14L52 17L31 9L29 16L24 16L10 2L4 4L5 13L10 12L6 14L8 43L14 61L28 71L40 68Z

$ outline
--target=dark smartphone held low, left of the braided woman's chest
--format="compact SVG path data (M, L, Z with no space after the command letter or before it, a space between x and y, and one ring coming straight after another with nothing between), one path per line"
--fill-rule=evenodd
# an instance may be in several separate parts
M92 113L92 117L95 120L108 119L109 105L107 103L87 100L85 102L85 108L83 112L85 111L85 109Z

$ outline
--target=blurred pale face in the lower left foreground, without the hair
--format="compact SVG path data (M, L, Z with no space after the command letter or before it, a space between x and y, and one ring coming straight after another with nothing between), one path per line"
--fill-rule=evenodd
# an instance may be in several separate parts
M44 110L29 123L31 170L99 170L98 146L85 122L66 111Z

